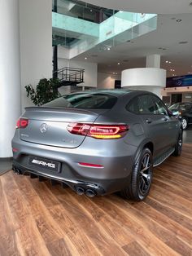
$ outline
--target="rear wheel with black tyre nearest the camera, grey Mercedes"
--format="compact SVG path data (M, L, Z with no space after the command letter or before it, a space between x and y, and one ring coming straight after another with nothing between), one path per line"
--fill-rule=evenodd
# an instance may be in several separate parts
M149 148L143 148L139 159L133 165L131 183L121 191L124 198L142 201L151 188L153 176L153 157Z

